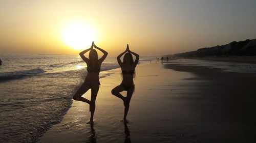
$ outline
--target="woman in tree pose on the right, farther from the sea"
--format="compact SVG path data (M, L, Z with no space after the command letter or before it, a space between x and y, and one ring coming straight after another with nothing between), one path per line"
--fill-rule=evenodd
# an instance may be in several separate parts
M122 62L120 58L123 54L124 56L123 56L123 62ZM135 61L133 61L132 54L136 56ZM130 51L129 45L127 44L126 50L117 56L117 62L121 67L123 80L120 85L118 85L111 91L111 93L123 100L123 105L124 105L123 122L127 123L126 116L129 110L132 95L134 93L135 84L133 82L133 78L135 77L135 67L139 62L139 55L135 52ZM120 94L120 92L122 91L127 91L126 97Z

